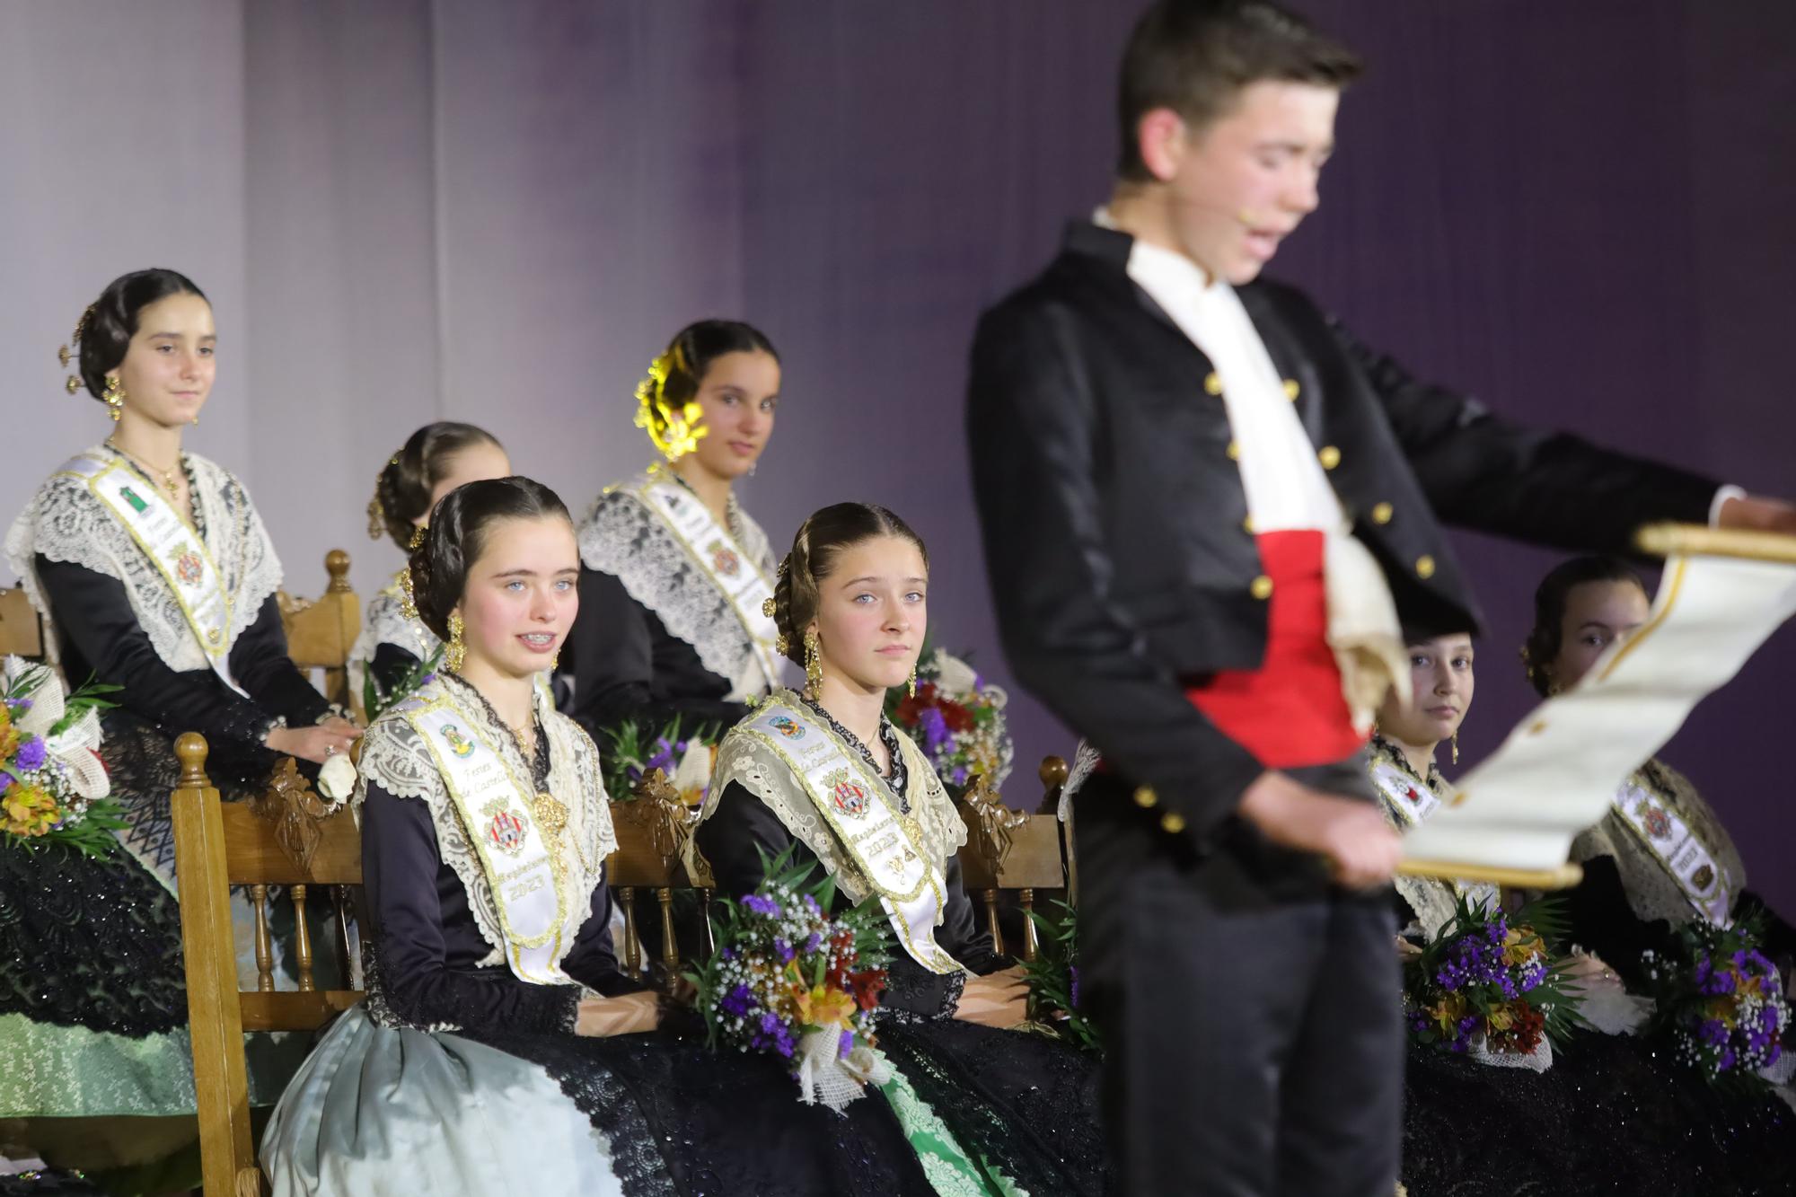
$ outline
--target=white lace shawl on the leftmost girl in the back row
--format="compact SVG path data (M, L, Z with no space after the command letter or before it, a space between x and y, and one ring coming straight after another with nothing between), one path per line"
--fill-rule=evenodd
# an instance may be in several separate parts
M81 453L99 462L119 458L106 446ZM183 455L192 474L194 503L205 523L205 545L230 598L224 643L237 643L262 604L280 590L280 557L250 492L230 471L198 453ZM120 458L124 460L124 458ZM31 604L50 622L50 604L38 581L38 555L65 561L124 582L131 611L162 663L176 672L210 669L205 649L181 611L180 597L84 478L54 473L38 487L5 537L5 555ZM56 654L56 636L47 645Z

